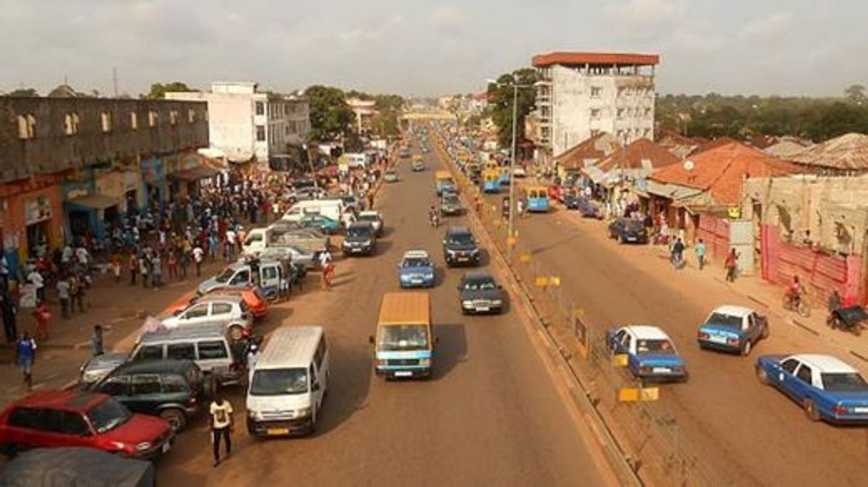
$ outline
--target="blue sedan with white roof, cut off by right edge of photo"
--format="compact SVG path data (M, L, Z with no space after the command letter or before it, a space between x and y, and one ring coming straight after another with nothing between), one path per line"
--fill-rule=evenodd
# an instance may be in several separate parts
M832 355L762 355L759 382L794 400L812 421L868 422L868 383L857 370Z

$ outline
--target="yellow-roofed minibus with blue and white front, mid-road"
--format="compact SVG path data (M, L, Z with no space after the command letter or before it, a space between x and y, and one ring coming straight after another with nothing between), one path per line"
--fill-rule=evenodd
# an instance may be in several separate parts
M386 379L431 377L435 338L431 298L424 292L386 293L380 302L374 372Z

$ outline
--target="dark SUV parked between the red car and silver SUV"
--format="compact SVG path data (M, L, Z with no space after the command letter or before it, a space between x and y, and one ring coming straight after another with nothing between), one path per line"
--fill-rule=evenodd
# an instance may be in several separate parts
M115 368L89 391L109 394L132 412L166 419L179 431L207 406L214 383L191 360L140 360Z

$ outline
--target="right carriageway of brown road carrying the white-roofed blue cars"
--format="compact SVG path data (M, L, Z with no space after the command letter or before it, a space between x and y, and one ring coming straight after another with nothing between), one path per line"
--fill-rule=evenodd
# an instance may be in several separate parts
M678 274L658 263L637 269L626 258L637 249L620 246L589 231L588 220L554 211L517 224L524 244L545 269L560 269L563 292L599 327L616 323L660 325L688 361L687 384L663 386L662 417L676 420L682 438L713 466L727 484L865 485L868 432L806 420L799 406L770 387L760 386L753 363L757 354L840 350L816 338L788 332L772 321L772 337L751 357L700 351L697 325L720 302L720 293L676 282ZM654 271L656 269L656 271ZM721 272L720 269L707 269ZM746 299L733 303L751 305ZM852 360L851 360L852 361Z

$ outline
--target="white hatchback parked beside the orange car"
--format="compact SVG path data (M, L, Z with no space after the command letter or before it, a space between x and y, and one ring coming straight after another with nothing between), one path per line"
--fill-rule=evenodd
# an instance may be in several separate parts
M253 315L244 298L237 295L203 295L188 308L161 320L167 329L200 325L222 325L233 340L253 333Z

